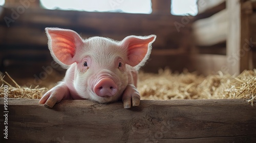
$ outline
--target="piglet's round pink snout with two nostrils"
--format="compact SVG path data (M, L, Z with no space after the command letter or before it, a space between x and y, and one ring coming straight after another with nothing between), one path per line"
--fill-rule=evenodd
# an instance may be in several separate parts
M118 90L116 83L111 78L102 78L93 88L99 97L114 96Z

